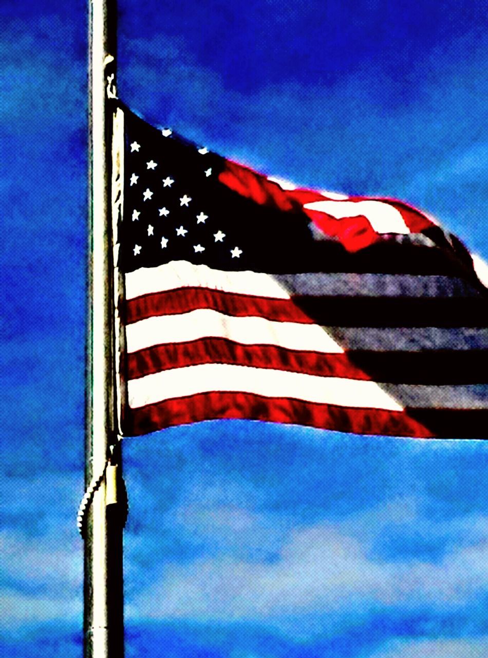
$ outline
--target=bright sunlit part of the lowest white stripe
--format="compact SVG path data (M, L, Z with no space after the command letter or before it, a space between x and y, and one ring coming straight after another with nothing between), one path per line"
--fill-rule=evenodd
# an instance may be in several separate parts
M128 382L132 409L211 391L239 391L341 407L402 411L402 407L375 382L220 363L163 370Z

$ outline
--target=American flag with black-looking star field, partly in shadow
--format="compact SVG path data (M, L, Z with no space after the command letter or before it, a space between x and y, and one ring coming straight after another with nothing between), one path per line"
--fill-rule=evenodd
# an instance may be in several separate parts
M124 109L123 432L247 418L488 436L486 289L394 199L295 189Z

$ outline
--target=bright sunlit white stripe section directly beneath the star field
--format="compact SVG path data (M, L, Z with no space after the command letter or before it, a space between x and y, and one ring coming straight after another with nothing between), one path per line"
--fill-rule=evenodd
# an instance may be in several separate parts
M224 272L207 265L172 261L158 267L141 267L126 274L126 299L175 288L213 288L241 295L289 299L287 291L270 274Z

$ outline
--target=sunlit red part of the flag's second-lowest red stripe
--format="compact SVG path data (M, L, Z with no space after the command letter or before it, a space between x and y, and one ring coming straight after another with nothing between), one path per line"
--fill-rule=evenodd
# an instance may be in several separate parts
M322 354L273 345L241 345L226 338L202 338L187 343L157 345L128 354L128 380L202 363L228 363L324 377L371 379L364 370L351 363L347 354ZM258 372L256 376L259 376Z

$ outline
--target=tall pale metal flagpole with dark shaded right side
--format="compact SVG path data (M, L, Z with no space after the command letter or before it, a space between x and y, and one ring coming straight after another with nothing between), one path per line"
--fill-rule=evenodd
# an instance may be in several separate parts
M111 125L116 2L89 0L89 299L85 481L105 472L85 524L84 655L124 655L120 449L114 401L114 274L110 220ZM107 459L110 463L107 466Z

